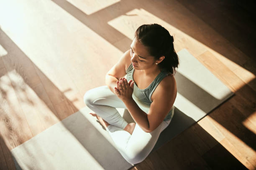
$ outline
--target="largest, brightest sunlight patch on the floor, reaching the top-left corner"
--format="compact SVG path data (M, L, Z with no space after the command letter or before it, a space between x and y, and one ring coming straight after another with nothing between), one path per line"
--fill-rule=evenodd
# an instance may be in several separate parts
M18 46L13 53L21 50L24 60L36 65L39 77L65 91L70 101L80 93L81 106L84 84L102 85L104 80L91 82L105 75L93 74L110 70L123 52L51 0L23 2L19 6L10 0L0 6L1 29ZM92 65L100 67L89 67Z

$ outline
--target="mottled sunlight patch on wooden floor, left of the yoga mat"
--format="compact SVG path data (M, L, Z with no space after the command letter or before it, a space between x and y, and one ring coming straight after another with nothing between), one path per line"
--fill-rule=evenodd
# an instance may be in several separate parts
M32 89L16 70L12 70L1 77L0 88L2 95L3 92L5 94L4 100L6 102L4 107L12 108L15 105L15 108L12 108L15 115L22 114L19 110L15 111L15 109L21 108L31 126L33 136L59 121L58 117L41 100L41 97L48 97L40 93L43 90L43 86L38 84ZM38 96L35 91L39 92L41 96ZM14 100L16 97L18 98L18 103L15 102L16 99Z

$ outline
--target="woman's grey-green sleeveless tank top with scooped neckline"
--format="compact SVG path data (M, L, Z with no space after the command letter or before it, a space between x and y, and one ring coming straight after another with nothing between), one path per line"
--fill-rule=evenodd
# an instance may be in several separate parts
M131 63L131 65L129 65L129 67L126 70L126 74L127 74L126 79L128 82L130 80L133 80L133 71L134 71L134 68ZM159 82L161 82L161 80L163 80L163 78L166 77L168 74L169 73L167 71L161 70L159 75L157 75L156 78L153 80L153 82L151 82L151 84L148 87L146 87L145 89L138 88L137 85L134 83L132 97L133 97L133 100L135 100L135 102L141 108L141 110L148 113L149 107L152 103L152 101L151 101L152 93L156 89ZM164 121L171 120L173 114L174 114L174 106L172 106L172 109L168 112L168 114L164 118Z

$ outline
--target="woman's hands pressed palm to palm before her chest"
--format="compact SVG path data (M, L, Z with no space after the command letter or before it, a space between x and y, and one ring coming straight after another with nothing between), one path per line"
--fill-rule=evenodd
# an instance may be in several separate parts
M130 80L127 82L126 78L120 78L120 81L117 81L117 87L115 87L115 94L123 102L126 100L132 100L133 97L133 85L134 81Z

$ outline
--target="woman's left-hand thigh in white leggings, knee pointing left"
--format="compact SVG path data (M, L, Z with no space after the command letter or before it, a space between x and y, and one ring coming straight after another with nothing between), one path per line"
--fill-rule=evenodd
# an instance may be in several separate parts
M84 102L89 102L94 105L107 105L126 109L124 102L120 100L106 85L88 90L84 94Z

